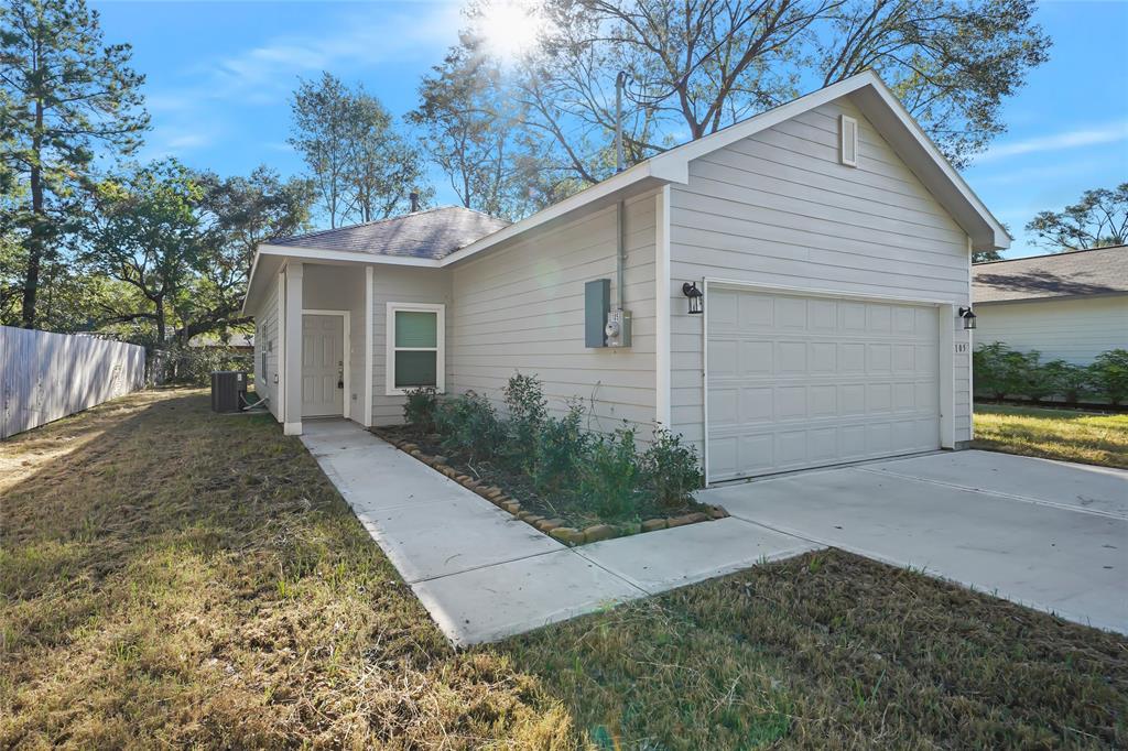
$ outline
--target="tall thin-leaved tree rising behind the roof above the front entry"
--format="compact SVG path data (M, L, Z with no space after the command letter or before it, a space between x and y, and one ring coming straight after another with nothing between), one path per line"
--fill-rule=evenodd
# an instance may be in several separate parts
M430 195L417 149L380 100L331 73L302 81L291 103L290 143L301 152L331 227L402 210L412 192Z

